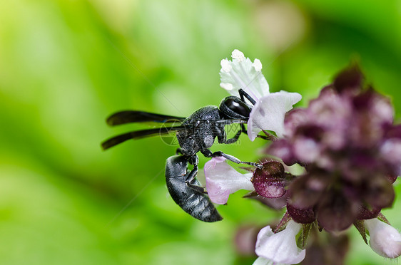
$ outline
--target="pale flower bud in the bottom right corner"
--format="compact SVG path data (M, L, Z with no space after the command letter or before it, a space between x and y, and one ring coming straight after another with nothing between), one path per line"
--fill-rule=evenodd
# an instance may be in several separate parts
M370 247L380 256L395 259L401 255L401 234L379 219L365 220L370 235Z

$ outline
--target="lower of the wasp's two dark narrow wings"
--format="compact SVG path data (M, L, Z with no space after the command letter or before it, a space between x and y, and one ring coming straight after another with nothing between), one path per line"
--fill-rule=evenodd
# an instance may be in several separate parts
M101 147L103 150L107 150L110 147L120 144L121 142L125 142L126 140L130 139L141 139L144 137L151 137L155 135L166 135L168 133L173 133L178 130L186 130L188 126L175 126L170 128L155 128L155 129L148 129L148 130L135 130L133 132L124 133L122 135L117 135L111 137L110 139L101 143Z

